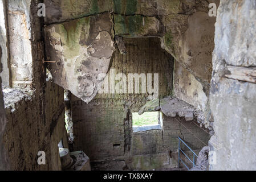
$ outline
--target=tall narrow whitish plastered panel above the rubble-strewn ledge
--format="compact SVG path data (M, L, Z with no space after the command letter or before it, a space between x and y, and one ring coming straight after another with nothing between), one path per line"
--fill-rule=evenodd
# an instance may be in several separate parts
M11 72L15 73L11 76L13 86L18 86L20 82L31 84L34 75L30 7L30 0L7 1L10 65Z

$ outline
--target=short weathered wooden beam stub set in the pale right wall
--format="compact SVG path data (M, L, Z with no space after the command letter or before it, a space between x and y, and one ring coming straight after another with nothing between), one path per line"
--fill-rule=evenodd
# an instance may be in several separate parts
M227 78L256 83L256 67L227 66L227 70L229 71L229 73L225 75Z

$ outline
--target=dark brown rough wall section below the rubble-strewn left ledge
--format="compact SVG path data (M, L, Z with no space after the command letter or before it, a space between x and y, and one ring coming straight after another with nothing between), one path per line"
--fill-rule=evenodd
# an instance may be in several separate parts
M46 83L46 118L41 119L40 101L33 95L7 107L6 133L3 137L13 170L60 170L58 143L68 147L64 123L64 91ZM46 165L37 164L38 151L46 152Z

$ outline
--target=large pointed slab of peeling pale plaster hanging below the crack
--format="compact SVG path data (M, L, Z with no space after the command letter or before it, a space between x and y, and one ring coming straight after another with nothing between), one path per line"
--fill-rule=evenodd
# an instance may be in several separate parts
M90 102L115 51L112 28L109 13L47 26L47 55L56 61L48 66L54 82Z

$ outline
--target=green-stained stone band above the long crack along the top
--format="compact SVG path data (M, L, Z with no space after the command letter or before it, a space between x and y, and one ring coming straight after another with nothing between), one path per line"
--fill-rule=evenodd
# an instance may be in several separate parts
M195 2L182 0L51 0L46 4L46 24L63 22L83 16L104 13L106 11L122 15L169 15L179 14L193 9Z

